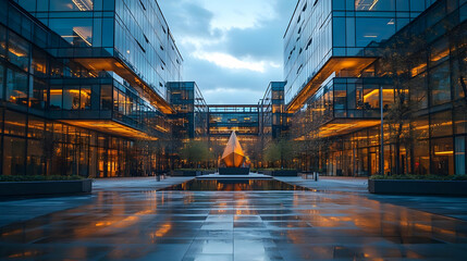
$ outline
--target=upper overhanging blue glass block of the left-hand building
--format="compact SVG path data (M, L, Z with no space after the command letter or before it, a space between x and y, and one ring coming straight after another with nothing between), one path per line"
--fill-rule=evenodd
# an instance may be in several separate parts
M84 63L97 71L119 71L167 99L167 83L182 79L183 59L156 1L16 0L70 45L50 42L60 58L106 59ZM133 84L133 83L132 83Z

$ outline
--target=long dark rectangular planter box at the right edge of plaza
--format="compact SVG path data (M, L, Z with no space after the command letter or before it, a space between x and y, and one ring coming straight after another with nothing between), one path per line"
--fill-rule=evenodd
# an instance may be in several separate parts
M372 194L467 196L467 182L369 179Z

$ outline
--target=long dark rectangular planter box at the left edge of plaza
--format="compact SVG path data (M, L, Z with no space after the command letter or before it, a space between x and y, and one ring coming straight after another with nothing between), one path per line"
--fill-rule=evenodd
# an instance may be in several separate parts
M91 179L0 183L0 196L90 194L91 191Z

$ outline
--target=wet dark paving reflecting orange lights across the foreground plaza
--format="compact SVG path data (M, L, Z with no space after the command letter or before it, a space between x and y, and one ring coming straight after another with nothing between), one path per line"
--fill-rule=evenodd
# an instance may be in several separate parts
M467 222L359 194L156 191L147 189L153 186L137 182L118 187L99 185L86 198L60 198L60 202L73 204L1 227L0 259L298 261L467 257ZM28 200L44 207L53 202ZM21 201L15 202L21 206ZM5 209L4 203L9 202L0 202L0 211Z

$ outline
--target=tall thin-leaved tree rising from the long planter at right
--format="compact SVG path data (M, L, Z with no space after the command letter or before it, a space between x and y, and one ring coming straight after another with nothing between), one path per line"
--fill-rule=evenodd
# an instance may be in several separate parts
M425 85L411 80L411 77L417 73L414 71L416 67L426 64L427 53L423 50L427 47L425 35L404 32L382 48L381 71L388 72L394 90L394 102L385 105L384 120L389 125L390 141L395 147L395 174L404 173L401 167L402 145L410 153L410 172L414 173L415 170L414 147L417 137L413 123L422 100L427 98L427 90L423 89ZM384 96L384 91L381 95Z

